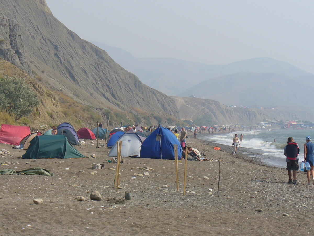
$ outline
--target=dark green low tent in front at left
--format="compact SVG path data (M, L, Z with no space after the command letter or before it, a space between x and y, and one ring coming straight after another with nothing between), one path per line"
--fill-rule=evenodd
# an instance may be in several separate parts
M64 135L35 136L22 159L85 158Z

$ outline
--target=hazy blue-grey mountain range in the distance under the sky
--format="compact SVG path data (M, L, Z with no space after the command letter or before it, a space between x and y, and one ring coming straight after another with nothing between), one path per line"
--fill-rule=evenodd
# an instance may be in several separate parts
M273 105L282 105L287 101L286 98L288 96L283 95L281 97L279 93L271 94L272 91L276 91L276 88L272 86L280 85L281 83L287 86L281 87L280 92L293 95L293 98L300 101L298 95L293 92L294 86L289 86L287 83L284 83L284 80L288 79L289 82L295 80L299 83L306 78L311 79L311 76L313 76L294 65L272 58L254 58L227 65L206 65L173 58L137 58L120 48L111 47L100 42L91 42L106 50L118 64L138 76L143 83L167 95L194 95L199 98L218 100L225 104L256 104L265 106L273 102ZM241 73L245 74L241 76ZM251 74L247 76L247 73L263 75L253 76ZM228 79L227 75L231 74L238 75L230 76ZM279 75L275 76L274 74ZM211 78L215 79L209 80L208 83L203 82ZM274 78L276 78L276 82L271 82ZM222 80L220 81L220 79ZM254 81L255 79L258 79L258 81ZM263 84L262 81L265 81L266 84ZM268 86L270 86L269 89L267 88ZM221 91L224 88L226 93ZM252 88L254 88L253 91ZM284 88L287 90L284 90ZM261 94L259 96L261 98L263 97L264 89L266 90L264 98L267 99L267 103L260 103L257 99L254 99L253 103L251 103L252 94ZM239 99L234 99L233 96L228 94L228 91L230 95L239 93L236 95L239 96ZM268 95L271 96L268 98ZM260 101L263 101L263 99ZM295 104L300 104L300 102Z

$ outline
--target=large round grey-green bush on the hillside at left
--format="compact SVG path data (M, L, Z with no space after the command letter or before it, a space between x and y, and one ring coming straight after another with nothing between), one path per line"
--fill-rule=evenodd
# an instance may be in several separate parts
M30 115L39 104L35 91L20 77L0 77L0 109L13 114L16 119Z

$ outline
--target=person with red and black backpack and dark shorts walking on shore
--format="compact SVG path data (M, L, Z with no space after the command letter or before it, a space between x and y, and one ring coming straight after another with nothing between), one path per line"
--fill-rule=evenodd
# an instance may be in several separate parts
M287 145L284 147L284 155L287 157L286 162L289 176L289 184L296 184L296 171L299 170L299 153L300 149L298 144L295 143L292 137L289 137ZM291 170L293 171L293 181L291 179Z

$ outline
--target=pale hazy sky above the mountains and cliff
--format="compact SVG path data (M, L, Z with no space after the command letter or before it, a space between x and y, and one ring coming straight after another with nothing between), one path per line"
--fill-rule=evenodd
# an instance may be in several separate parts
M136 57L228 64L271 57L314 73L314 1L46 0L81 38Z

